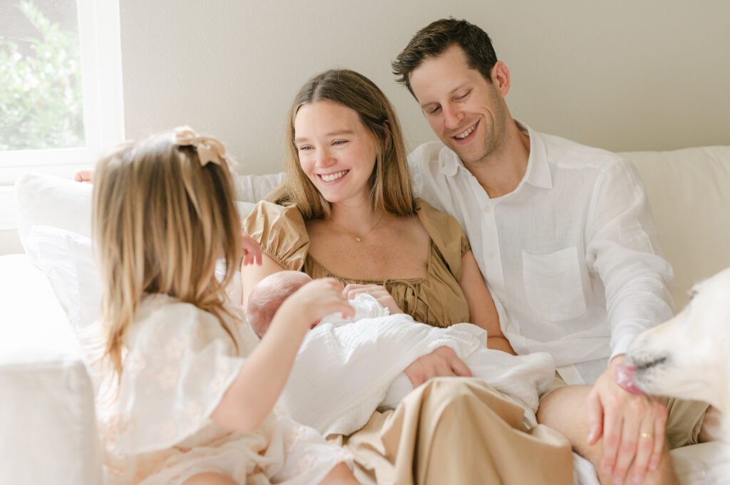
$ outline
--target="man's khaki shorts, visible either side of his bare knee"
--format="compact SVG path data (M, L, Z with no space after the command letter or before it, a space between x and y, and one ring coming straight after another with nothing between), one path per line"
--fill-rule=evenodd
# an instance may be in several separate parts
M548 389L540 395L540 401L550 392L565 387L568 384L556 373L555 379ZM709 405L701 401L681 400L674 397L661 397L661 402L668 411L666 416L666 441L669 449L699 443L699 432L702 430L704 414Z

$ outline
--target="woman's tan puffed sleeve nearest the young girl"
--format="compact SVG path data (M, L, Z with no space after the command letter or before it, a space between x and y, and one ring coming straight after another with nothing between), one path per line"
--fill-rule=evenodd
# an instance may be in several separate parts
M285 270L301 271L309 252L307 226L296 206L259 202L243 221L243 230L261 244L261 251Z

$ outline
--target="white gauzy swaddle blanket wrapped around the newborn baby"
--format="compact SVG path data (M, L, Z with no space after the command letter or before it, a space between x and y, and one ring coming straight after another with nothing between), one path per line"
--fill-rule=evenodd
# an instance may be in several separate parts
M403 373L414 360L448 346L494 389L525 408L535 424L538 393L553 381L545 352L513 356L486 348L486 331L461 323L447 328L388 315L371 295L350 302L353 319L330 316L310 330L278 405L323 435L359 430L377 408L393 408L413 388Z

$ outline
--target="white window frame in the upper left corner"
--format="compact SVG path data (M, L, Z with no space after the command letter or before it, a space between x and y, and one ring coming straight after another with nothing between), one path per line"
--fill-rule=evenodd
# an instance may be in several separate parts
M0 151L0 230L18 228L15 180L30 171L71 177L124 139L118 0L76 0L86 147Z

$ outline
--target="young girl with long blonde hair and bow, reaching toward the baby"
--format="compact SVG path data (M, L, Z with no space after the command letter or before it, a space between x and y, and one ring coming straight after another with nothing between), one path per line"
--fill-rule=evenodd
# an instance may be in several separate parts
M352 309L339 282L307 284L255 344L225 292L242 252L261 253L242 241L223 145L177 128L123 145L94 182L107 482L356 484L345 451L272 412L312 322Z

